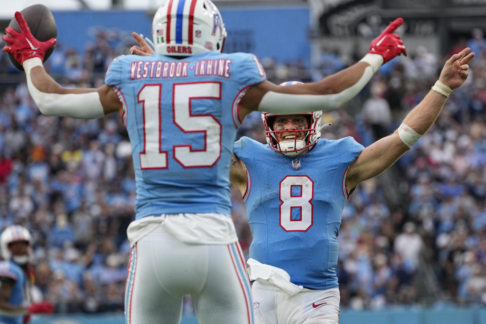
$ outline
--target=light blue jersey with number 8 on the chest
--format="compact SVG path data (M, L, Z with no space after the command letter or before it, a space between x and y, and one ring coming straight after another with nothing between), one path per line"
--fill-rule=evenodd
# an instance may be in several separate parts
M348 195L344 179L362 150L351 137L320 139L310 152L291 158L239 139L234 154L247 169L250 257L286 270L296 285L338 287L337 236Z

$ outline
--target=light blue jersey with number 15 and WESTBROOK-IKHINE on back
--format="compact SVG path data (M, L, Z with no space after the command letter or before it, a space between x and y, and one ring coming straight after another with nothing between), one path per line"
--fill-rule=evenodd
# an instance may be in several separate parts
M136 219L178 213L231 215L229 165L238 103L265 80L251 54L183 59L119 56L105 84L124 105L137 182Z

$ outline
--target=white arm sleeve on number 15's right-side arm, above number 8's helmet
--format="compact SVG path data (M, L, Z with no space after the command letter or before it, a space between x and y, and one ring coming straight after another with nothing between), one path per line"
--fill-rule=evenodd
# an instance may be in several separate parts
M332 95L294 95L269 91L260 101L258 110L289 114L335 109L351 100L366 86L373 74L383 63L383 58L378 54L367 54L361 61L367 62L370 66L365 69L354 85L344 89L340 93Z

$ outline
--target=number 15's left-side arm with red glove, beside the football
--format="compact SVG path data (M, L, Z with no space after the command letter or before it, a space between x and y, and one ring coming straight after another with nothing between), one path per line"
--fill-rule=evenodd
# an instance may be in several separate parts
M111 112L123 112L123 106L111 87L67 89L61 87L44 69L46 51L56 44L54 38L39 42L32 35L20 12L15 13L20 32L7 27L2 38L3 52L12 54L23 66L27 86L35 104L45 115L96 118Z

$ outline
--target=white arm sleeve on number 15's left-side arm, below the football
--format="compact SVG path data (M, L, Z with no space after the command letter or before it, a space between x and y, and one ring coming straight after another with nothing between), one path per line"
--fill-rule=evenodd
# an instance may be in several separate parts
M29 88L30 95L43 115L74 118L98 118L104 116L100 95L97 91L62 95L41 92L35 88L30 78L30 70L33 67L43 67L41 59L34 57L25 60L22 66L27 76L27 87Z

